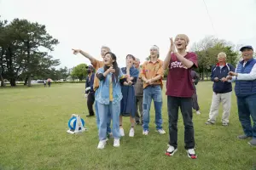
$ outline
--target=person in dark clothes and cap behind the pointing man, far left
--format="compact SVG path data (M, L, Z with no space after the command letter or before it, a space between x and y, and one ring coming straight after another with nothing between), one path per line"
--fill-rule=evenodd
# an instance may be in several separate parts
M93 70L94 69L92 65L87 67L88 77L86 78L85 82L85 97L87 97L87 107L89 111L88 116L94 116L93 104L95 101L95 94L93 90L93 82L95 74L93 73Z

